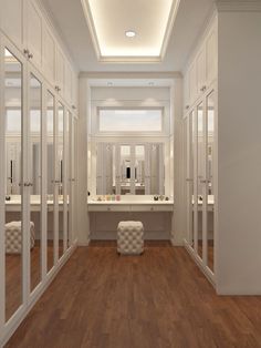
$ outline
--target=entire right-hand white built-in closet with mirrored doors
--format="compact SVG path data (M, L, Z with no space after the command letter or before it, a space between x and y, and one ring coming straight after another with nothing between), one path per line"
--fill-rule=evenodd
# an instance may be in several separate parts
M185 246L215 284L217 229L217 21L185 73Z

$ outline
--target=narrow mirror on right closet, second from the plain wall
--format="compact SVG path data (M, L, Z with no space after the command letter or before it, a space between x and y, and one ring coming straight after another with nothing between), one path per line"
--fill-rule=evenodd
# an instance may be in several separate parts
M197 108L197 182L198 182L198 255L202 258L202 201L203 201L203 104Z

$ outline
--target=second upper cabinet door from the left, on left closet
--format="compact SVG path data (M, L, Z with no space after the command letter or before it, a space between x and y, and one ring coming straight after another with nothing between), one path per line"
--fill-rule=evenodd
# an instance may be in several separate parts
M35 1L27 0L27 49L28 58L32 63L42 69L42 16Z

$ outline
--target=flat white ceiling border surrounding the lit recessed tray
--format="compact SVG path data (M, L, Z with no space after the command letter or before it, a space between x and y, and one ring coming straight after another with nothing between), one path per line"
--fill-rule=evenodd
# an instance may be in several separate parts
M166 54L157 63L100 62L81 0L41 0L80 71L86 72L169 72L181 71L196 39L209 18L213 0L180 0ZM107 0L108 1L108 0ZM123 0L122 0L123 1ZM134 1L134 0L124 0ZM143 0L150 3L152 0ZM165 0L160 0L164 2ZM137 13L138 14L138 13ZM115 13L115 20L117 19ZM139 19L146 18L146 13Z

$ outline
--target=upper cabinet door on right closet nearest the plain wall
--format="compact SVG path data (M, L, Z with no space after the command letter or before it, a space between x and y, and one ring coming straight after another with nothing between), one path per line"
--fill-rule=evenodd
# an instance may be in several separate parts
M218 57L217 57L217 31L216 27L210 31L206 40L206 55L207 55L207 82L208 85L217 78L218 72Z

